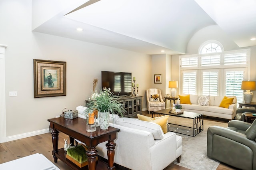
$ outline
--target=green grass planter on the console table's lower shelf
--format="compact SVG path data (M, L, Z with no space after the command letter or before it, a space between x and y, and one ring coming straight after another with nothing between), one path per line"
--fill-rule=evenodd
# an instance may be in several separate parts
M68 148L67 150L67 155L82 164L83 162L87 161L87 156L86 156L86 150L84 146L81 144L78 144L74 148Z

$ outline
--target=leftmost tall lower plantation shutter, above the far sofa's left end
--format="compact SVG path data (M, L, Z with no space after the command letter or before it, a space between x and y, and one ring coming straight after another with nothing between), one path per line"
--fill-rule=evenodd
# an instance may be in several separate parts
M196 72L184 72L182 82L182 93L196 94Z

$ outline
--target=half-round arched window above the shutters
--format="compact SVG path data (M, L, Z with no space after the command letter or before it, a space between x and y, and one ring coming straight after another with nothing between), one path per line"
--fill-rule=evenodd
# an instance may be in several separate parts
M204 42L199 48L199 54L221 53L222 51L224 51L222 44L216 40Z

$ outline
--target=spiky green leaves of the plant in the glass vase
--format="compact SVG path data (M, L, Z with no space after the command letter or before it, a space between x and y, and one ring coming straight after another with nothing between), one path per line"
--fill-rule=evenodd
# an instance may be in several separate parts
M90 101L86 104L86 109L84 110L84 115L88 115L92 113L94 110L98 110L99 112L110 112L112 114L119 114L124 117L124 113L126 110L123 107L123 104L118 102L120 97L114 96L112 92L110 92L110 88L100 90L100 93L96 95L95 100Z

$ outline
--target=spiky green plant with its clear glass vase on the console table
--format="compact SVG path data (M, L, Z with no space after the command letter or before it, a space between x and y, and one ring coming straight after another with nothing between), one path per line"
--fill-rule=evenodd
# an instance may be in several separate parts
M113 93L110 92L110 88L104 88L97 93L93 101L86 104L87 108L84 110L84 115L87 116L97 110L100 128L107 130L110 112L122 117L124 117L124 113L126 112L123 104L121 104L118 99L120 99L120 97L114 96Z

